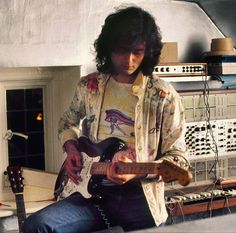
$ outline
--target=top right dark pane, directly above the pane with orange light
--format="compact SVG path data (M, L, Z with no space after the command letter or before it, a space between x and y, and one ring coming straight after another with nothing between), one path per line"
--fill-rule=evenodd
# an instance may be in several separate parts
M26 108L27 109L43 108L43 93L41 88L26 90Z

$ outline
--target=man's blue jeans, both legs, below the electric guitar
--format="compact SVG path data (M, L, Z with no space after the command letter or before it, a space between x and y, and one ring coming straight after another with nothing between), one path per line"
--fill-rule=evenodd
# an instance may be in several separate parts
M23 233L86 233L121 226L124 231L155 225L141 187L101 189L99 203L75 193L32 215L23 224ZM105 214L105 215L104 215Z

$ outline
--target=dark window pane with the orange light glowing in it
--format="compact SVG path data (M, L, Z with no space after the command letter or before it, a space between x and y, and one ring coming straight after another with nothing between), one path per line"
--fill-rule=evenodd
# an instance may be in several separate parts
M42 131L43 120L39 120L42 115L41 111L28 111L26 113L26 131Z

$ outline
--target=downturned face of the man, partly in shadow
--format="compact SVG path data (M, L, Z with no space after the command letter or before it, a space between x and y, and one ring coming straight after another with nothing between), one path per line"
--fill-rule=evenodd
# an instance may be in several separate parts
M141 65L145 55L145 43L139 42L132 48L120 48L111 54L111 61L117 74L132 75Z

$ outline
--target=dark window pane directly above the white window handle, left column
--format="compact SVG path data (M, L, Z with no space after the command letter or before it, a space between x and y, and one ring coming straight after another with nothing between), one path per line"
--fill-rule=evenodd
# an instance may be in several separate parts
M24 112L8 112L7 128L12 131L25 132L25 113Z

